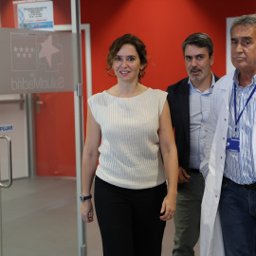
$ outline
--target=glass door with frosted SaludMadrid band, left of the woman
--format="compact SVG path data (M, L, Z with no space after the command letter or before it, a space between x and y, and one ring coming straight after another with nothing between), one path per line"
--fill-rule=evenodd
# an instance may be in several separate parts
M0 256L80 255L76 38L68 32L0 28L0 135L11 139L14 177L9 189L0 189ZM3 182L6 148L0 144Z

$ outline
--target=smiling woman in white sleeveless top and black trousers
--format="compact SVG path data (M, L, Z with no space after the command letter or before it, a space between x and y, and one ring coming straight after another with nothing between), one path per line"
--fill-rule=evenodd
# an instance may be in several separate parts
M147 52L132 34L110 46L107 64L118 83L88 100L82 219L93 221L90 191L96 170L95 208L104 256L160 256L177 190L167 93L139 83L148 64Z

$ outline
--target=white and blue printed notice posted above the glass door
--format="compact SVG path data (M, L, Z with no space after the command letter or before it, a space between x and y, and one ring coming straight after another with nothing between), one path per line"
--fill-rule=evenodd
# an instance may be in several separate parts
M22 29L54 29L52 1L13 1L15 27Z

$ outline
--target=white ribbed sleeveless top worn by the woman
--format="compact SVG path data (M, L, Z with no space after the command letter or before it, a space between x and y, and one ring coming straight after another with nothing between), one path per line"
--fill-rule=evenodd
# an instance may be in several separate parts
M132 98L103 91L88 99L101 126L96 174L102 180L135 190L165 182L157 131L166 97L166 92L148 88Z

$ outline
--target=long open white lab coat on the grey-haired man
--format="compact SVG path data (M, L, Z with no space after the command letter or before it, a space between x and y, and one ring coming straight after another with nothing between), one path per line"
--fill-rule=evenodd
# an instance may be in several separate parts
M200 256L225 256L218 212L229 127L229 100L234 72L215 83L207 124L205 159L209 164L201 207Z

